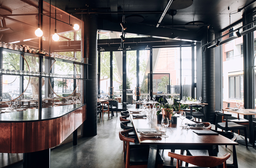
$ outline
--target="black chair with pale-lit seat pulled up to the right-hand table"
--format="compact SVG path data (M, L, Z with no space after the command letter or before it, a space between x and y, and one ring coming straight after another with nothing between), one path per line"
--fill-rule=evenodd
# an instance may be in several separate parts
M226 120L226 122L220 122L218 123L218 116L232 116L231 114L225 114L225 113L221 113L216 111L215 114L217 115L216 117L216 122L215 122L215 130L217 130L218 128L224 131L232 131L234 132L234 130L244 130L245 133L245 144L246 144L246 148L248 148L248 144L247 144L247 133L246 133L246 126L245 125L239 125L237 123L234 122L228 122L228 120ZM227 118L226 118L227 119Z

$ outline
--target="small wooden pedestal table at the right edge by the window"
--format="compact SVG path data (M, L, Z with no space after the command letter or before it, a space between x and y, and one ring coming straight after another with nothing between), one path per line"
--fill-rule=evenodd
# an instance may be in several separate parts
M241 114L241 115L248 115L249 120L249 143L248 146L253 146L253 115L256 115L256 109L244 109L244 110L235 110L235 109L223 109L229 113L233 114ZM245 140L239 139L237 140L238 143L245 145Z

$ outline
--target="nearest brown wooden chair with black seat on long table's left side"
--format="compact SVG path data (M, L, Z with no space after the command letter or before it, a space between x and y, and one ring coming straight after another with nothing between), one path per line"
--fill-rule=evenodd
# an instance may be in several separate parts
M124 141L124 160L125 168L147 168L149 148L130 148L130 143L135 143L134 138L128 138L124 135L133 132L134 129L119 131L119 138ZM159 153L158 168L162 168L164 160Z

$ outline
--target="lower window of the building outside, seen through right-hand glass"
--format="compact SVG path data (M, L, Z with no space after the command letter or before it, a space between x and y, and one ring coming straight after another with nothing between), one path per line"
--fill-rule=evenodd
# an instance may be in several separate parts
M229 77L229 99L243 99L243 75Z

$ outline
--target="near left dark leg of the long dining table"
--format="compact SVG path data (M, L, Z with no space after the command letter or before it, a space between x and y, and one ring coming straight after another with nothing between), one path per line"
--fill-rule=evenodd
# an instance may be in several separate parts
M157 148L157 145L150 145L147 168L157 168L158 155L159 149Z

